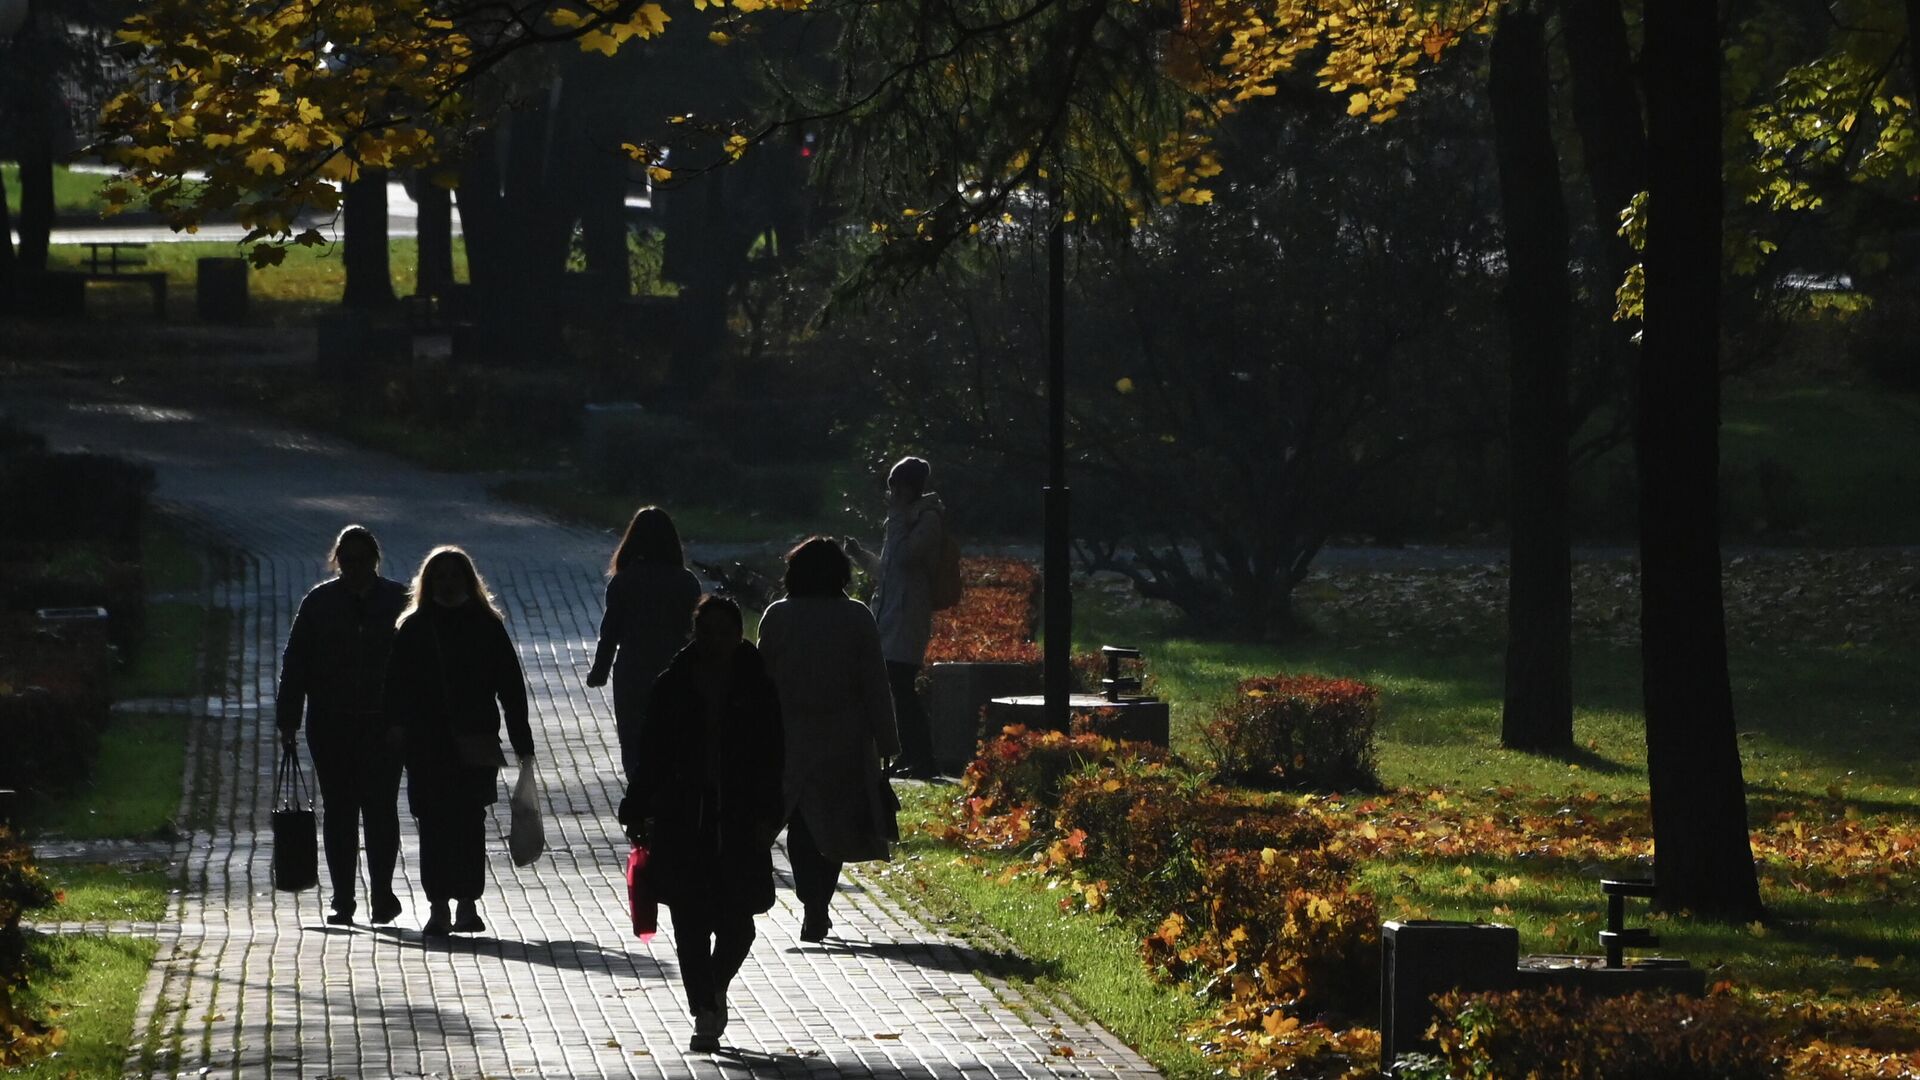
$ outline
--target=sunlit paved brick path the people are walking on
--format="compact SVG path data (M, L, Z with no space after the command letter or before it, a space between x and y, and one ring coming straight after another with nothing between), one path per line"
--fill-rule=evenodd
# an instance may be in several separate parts
M780 901L732 994L718 1055L687 1055L670 932L626 928L626 844L611 701L582 673L601 613L609 538L426 473L269 423L77 396L12 402L61 450L136 457L157 500L230 557L211 600L230 650L196 703L182 819L182 897L134 1028L136 1076L1152 1076L1060 1001L996 972L1006 953L956 942L874 882L851 880L835 938L797 940L787 863ZM549 851L515 869L490 846L490 932L438 944L417 926L419 846L403 817L397 928L324 924L324 890L269 882L273 682L300 596L346 521L372 527L388 573L459 540L509 617L532 688ZM495 807L505 834L505 803ZM361 896L367 896L365 886Z

